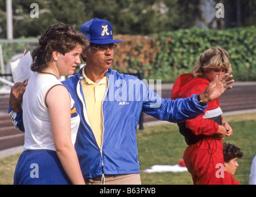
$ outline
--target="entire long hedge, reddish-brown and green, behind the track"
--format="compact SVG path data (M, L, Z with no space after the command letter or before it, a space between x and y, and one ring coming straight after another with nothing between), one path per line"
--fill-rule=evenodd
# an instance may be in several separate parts
M192 71L196 58L211 47L228 51L236 81L256 81L256 28L207 30L192 28L150 36L116 35L122 39L114 57L113 69L122 73L142 72L146 79L174 82L181 73ZM35 38L33 38L35 39ZM35 43L1 43L4 63Z

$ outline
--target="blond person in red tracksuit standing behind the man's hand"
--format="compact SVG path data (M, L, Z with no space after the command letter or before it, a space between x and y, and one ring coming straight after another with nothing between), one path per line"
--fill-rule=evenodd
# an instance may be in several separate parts
M193 73L181 74L174 83L172 99L199 94L210 81L221 74L231 72L229 54L220 47L206 50L197 58ZM199 101L199 100L198 100ZM211 100L202 115L177 123L188 147L184 162L195 185L222 185L224 177L218 173L223 165L225 136L233 133L231 126L223 121L219 99Z

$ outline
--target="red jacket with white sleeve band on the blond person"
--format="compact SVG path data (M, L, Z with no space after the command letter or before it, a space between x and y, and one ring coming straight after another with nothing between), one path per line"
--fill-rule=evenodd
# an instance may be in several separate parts
M194 78L192 74L181 74L174 83L171 98L186 98L192 94L203 92L210 81L202 78ZM205 139L218 132L218 124L222 124L219 98L208 102L208 107L202 115L178 123L180 132L184 135L188 145ZM188 130L189 129L189 130ZM190 131L190 132L189 132Z

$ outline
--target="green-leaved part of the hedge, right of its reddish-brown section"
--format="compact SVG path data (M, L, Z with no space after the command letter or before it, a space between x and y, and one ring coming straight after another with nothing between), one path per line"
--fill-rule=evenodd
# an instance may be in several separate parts
M173 81L191 72L196 58L211 47L220 46L229 53L236 81L256 81L256 28L232 28L224 31L193 28L156 35L160 51L150 78Z

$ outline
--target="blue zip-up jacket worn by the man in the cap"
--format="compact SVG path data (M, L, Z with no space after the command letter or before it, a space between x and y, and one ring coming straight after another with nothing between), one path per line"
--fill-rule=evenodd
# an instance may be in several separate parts
M198 103L197 95L176 100L160 98L135 76L120 74L110 68L106 73L108 89L102 105L104 131L103 145L100 148L88 122L80 83L83 79L82 69L62 83L74 99L75 108L81 119L75 150L85 179L103 173L140 173L136 131L141 111L157 119L177 123L184 119L195 118L207 107ZM16 115L15 117L22 118ZM17 118L15 118L16 123L22 125Z

